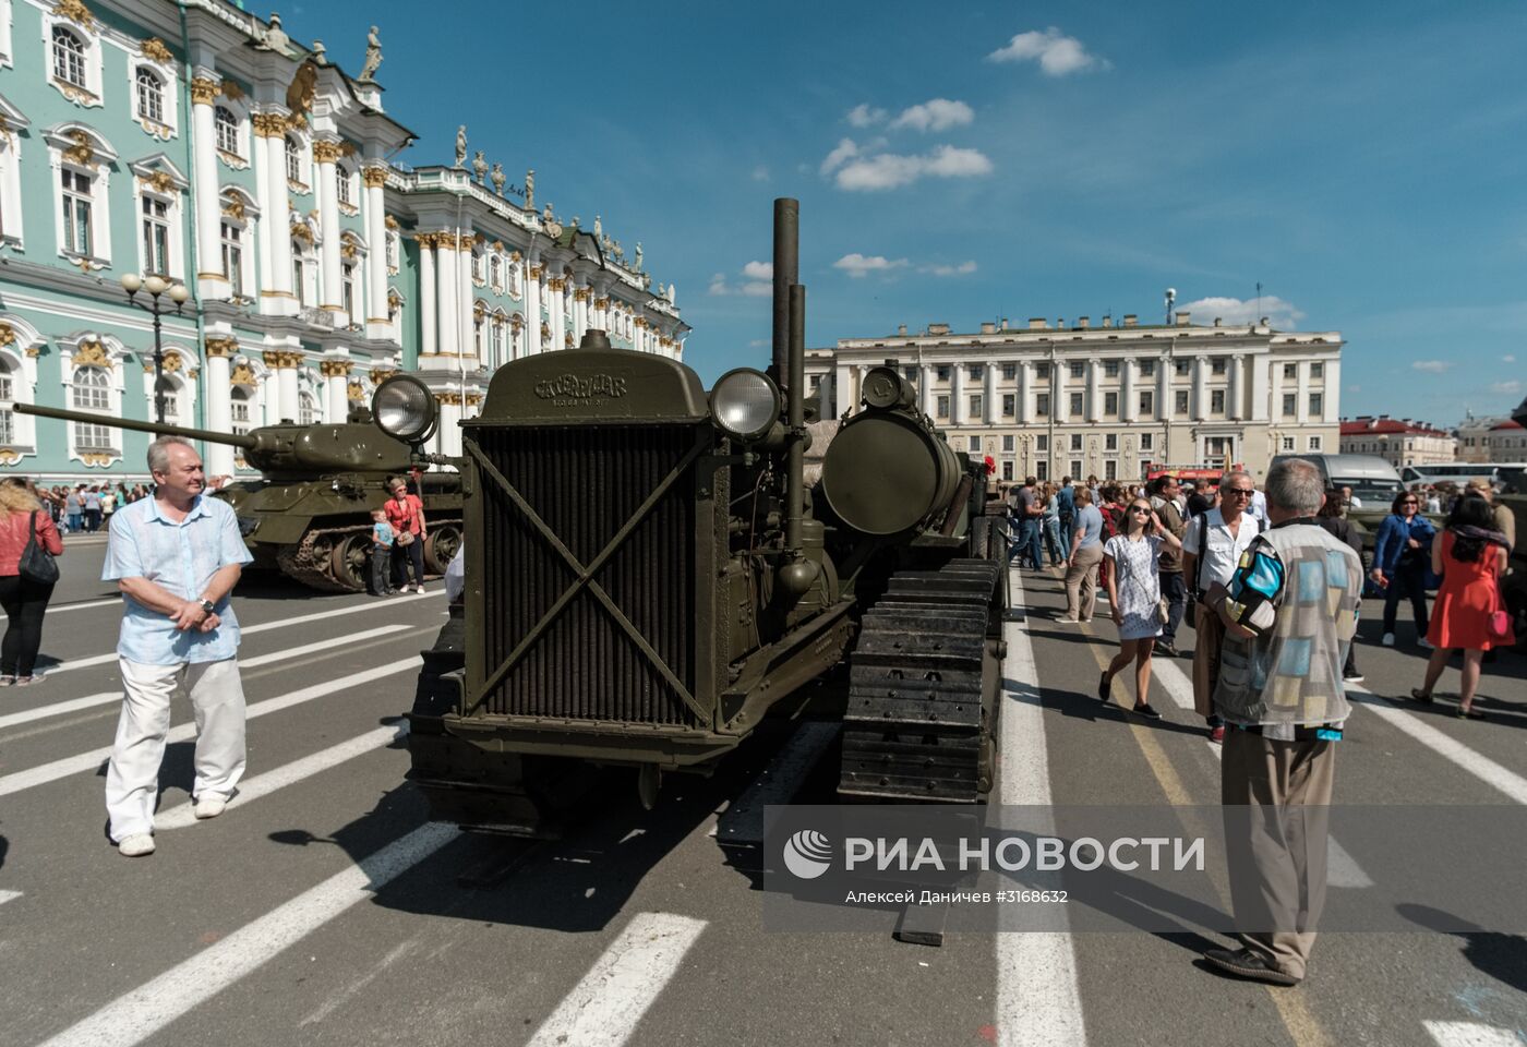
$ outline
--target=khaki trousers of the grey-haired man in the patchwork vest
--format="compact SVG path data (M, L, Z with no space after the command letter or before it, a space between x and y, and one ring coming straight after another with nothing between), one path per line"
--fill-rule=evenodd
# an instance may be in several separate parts
M1246 948L1303 978L1325 907L1335 742L1229 728L1220 769L1231 905Z

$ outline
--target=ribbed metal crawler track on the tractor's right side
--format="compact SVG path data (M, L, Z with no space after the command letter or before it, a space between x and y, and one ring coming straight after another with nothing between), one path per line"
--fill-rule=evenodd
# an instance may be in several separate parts
M951 560L899 571L864 614L849 659L838 794L977 803L991 791L1000 566Z

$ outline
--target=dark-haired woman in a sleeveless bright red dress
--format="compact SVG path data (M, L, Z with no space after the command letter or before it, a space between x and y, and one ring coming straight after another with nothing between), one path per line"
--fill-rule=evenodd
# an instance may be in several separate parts
M1432 606L1426 639L1435 644L1426 662L1426 682L1411 690L1417 702L1431 702L1432 688L1448 667L1448 658L1463 650L1463 684L1458 687L1458 716L1483 720L1474 708L1480 685L1480 662L1490 647L1510 647L1512 635L1492 636L1490 615L1501 610L1498 578L1506 571L1510 545L1495 530L1490 504L1478 496L1458 499L1448 527L1432 539L1432 572L1443 575ZM1507 630L1509 632L1509 630Z

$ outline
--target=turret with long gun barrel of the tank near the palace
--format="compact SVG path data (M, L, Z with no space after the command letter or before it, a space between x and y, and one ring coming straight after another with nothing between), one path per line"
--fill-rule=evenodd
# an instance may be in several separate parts
M267 475L286 473L402 473L409 467L408 444L388 437L370 423L341 423L298 426L261 426L247 433L226 433L189 426L166 426L130 418L108 418L84 411L61 411L26 403L15 406L24 415L58 418L61 421L84 421L113 429L147 432L156 437L185 437L212 444L243 447L244 461Z

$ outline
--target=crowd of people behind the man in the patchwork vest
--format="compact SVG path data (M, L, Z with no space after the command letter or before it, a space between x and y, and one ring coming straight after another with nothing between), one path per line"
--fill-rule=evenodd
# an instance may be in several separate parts
M1322 481L1324 482L1324 481ZM1237 571L1258 536L1274 527L1264 490L1252 476L1231 470L1212 481L1157 476L1124 484L1089 476L1040 482L1029 476L1008 495L1009 563L1020 569L1061 571L1066 607L1058 621L1086 624L1099 595L1119 627L1119 652L1098 684L1107 701L1113 678L1133 662L1136 714L1159 714L1150 704L1150 659L1177 656L1177 630L1193 624L1194 704L1209 737L1223 742L1225 723L1214 708L1225 621L1211 604L1215 588L1231 592ZM1362 563L1362 533L1348 511L1362 508L1350 487L1328 488L1309 524L1319 527ZM1441 516L1438 527L1428 517ZM1396 646L1400 600L1408 600L1416 646L1429 652L1412 697L1432 701L1432 688L1454 653L1463 652L1458 716L1483 719L1474 708L1486 653L1515 643L1500 594L1515 545L1515 517L1495 502L1487 481L1461 488L1417 485L1402 491L1377 527L1367 592L1383 601L1382 639ZM1046 563L1048 559L1048 563ZM1429 594L1437 591L1429 604ZM1191 618L1188 612L1191 609ZM1492 624L1493 623L1493 624ZM1361 684L1356 644L1347 644L1341 678Z

